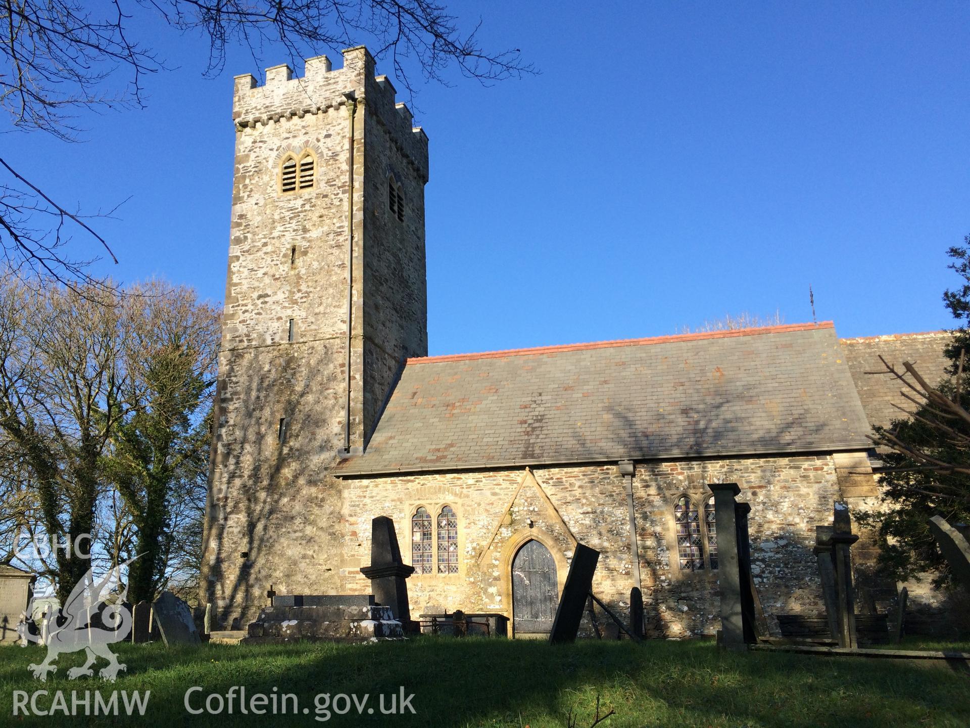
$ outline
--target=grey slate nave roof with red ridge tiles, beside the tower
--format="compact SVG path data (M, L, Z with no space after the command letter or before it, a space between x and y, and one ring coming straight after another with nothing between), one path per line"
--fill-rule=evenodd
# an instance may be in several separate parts
M830 321L408 359L337 475L867 449Z

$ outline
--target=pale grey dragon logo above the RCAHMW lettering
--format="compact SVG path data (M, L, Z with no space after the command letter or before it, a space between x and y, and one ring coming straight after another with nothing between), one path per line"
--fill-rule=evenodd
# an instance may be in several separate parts
M87 660L81 667L68 670L69 679L93 677L91 665L98 657L103 657L109 663L98 673L102 678L114 680L118 671L127 669L127 666L118 663L108 645L123 641L131 633L131 610L123 604L128 595L128 585L121 582L121 569L137 558L135 556L113 566L98 580L95 580L94 570L91 569L75 585L64 607L49 618L47 658L40 665L27 666L35 678L47 680L49 673L57 671L53 662L58 655L81 649L87 652ZM33 613L33 608L31 600L24 618L17 625L17 633L24 646L27 642L41 642L39 636L30 634L27 629L27 618Z

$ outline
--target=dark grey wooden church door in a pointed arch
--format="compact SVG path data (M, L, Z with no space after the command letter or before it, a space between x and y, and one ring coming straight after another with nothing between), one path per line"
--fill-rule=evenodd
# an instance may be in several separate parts
M548 548L531 539L512 558L513 634L536 637L549 634L558 606L556 561Z

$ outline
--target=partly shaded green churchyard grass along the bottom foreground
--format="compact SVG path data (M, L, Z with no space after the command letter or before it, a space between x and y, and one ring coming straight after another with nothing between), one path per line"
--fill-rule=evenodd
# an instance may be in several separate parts
M904 648L942 645L908 639ZM970 645L962 643L958 647ZM421 637L404 643L113 645L127 664L115 683L69 680L81 653L62 655L42 683L27 664L42 647L0 647L0 725L207 725L218 726L508 726L560 728L572 711L577 727L600 712L615 714L600 726L967 726L970 677L910 662L814 657L784 653L735 653L709 641L539 642ZM101 667L99 661L96 667ZM298 714L193 716L184 695L201 708L210 694L234 685L246 694L293 693ZM415 713L364 715L356 709L315 720L318 693L414 694ZM144 717L13 716L13 691L150 690ZM352 705L352 704L351 704ZM49 703L41 703L43 708ZM307 708L308 713L303 713ZM92 709L93 710L93 709ZM81 709L81 713L83 709Z

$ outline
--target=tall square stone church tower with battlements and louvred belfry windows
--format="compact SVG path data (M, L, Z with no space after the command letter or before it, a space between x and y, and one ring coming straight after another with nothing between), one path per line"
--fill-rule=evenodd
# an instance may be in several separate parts
M428 137L368 50L236 77L236 159L202 574L213 627L335 593L341 456L427 354ZM342 571L341 571L342 570Z

